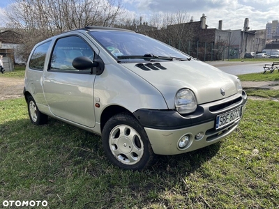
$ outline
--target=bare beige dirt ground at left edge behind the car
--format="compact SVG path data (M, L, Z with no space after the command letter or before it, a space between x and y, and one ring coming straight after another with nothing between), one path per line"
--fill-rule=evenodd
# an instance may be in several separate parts
M24 79L0 76L0 100L23 98Z

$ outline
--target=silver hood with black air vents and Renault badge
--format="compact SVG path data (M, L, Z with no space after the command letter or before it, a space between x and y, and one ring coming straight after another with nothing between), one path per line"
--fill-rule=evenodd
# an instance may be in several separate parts
M152 63L121 63L162 93L169 109L174 109L174 97L181 88L195 93L197 104L227 98L237 93L236 79L202 61L167 61ZM221 94L221 88L225 95Z

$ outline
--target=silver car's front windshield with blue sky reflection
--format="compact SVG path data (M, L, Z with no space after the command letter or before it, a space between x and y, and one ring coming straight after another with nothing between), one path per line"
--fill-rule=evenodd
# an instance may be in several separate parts
M90 31L89 33L118 60L146 60L146 57L163 60L169 60L166 58L171 57L185 60L190 57L178 49L140 33L127 31Z

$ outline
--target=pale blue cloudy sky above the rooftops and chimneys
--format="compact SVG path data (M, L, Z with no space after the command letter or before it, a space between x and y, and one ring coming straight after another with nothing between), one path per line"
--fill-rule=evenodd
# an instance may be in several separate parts
M12 0L0 0L0 22L3 9ZM279 20L278 0L121 0L129 17L148 22L155 13L177 13L183 11L187 16L199 21L206 16L209 28L218 28L223 20L223 30L243 29L244 20L249 19L250 30L266 29L266 23ZM190 20L189 20L190 21ZM0 23L1 26L1 23Z

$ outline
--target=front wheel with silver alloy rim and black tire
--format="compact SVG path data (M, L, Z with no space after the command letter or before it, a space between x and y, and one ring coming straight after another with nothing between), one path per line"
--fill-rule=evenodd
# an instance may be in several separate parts
M147 134L130 114L112 116L103 128L107 159L121 169L142 170L153 163L154 153Z

